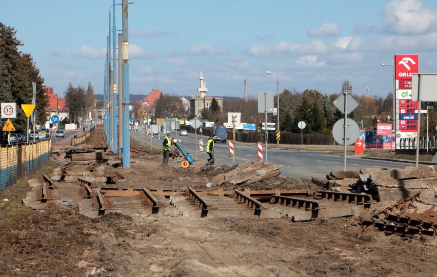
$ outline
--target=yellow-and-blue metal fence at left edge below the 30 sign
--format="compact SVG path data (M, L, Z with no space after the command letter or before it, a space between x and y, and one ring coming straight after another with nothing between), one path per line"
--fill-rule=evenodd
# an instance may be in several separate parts
M0 146L0 191L47 163L51 140Z

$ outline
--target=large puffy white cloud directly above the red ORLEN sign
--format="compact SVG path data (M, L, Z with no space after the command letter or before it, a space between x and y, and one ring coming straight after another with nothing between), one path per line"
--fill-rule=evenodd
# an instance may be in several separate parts
M423 8L420 0L394 0L382 14L385 33L418 35L437 29L437 12Z

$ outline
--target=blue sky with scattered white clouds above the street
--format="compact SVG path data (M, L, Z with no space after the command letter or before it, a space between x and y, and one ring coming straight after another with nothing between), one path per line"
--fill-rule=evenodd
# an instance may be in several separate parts
M131 0L129 91L208 96L280 90L356 95L392 91L395 54L418 54L419 71L437 72L434 0ZM116 4L121 4L117 0ZM45 79L61 96L68 83L103 93L112 0L0 0L0 22L15 28ZM111 9L112 11L112 9ZM121 6L115 6L122 29ZM112 14L111 14L112 20ZM112 30L112 29L111 29ZM112 47L112 42L111 42ZM157 86L156 86L157 85Z

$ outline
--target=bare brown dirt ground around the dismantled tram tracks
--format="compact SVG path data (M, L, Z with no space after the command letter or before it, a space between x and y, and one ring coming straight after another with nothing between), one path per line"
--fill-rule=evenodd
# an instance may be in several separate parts
M218 173L161 165L161 153L132 155L118 186L207 189ZM30 178L63 164L51 161ZM328 173L328 172L327 172ZM437 238L385 235L357 217L293 223L289 218L197 218L109 213L81 215L74 205L32 210L23 179L0 192L0 276L435 276ZM315 187L275 177L251 189ZM230 184L224 189L240 188ZM216 189L216 187L214 188ZM372 214L383 207L369 211Z

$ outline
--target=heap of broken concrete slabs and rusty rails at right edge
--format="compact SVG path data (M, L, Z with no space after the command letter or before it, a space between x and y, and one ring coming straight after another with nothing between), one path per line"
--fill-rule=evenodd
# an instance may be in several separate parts
M361 217L363 225L387 234L437 235L437 165L331 172L327 179L324 183L313 178L313 183L329 190L366 192L381 203L396 203L370 219Z

